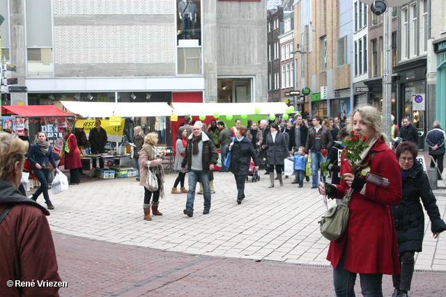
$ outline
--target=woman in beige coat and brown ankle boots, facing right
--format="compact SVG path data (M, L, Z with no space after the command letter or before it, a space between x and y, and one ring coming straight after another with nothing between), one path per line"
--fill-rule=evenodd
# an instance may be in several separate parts
M148 170L155 173L158 179L158 189L156 191L148 191L144 186L144 220L152 220L151 218L151 206L153 216L162 216L162 213L158 211L158 205L160 204L160 197L164 198L164 169L162 168L161 161L164 160L165 152L158 151L158 134L149 133L144 137L144 145L139 152L139 170L141 180L139 186L146 184ZM151 198L153 195L152 205Z

